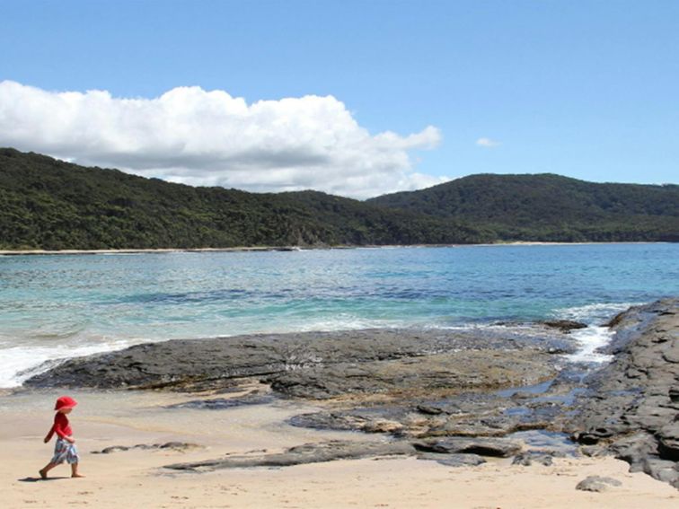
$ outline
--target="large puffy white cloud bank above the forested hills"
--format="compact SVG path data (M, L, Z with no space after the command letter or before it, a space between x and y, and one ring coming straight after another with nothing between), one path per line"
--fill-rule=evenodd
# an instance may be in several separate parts
M431 126L371 135L332 96L248 104L178 87L123 99L0 82L0 145L190 185L350 197L419 189L446 179L415 172L409 151L440 137Z

